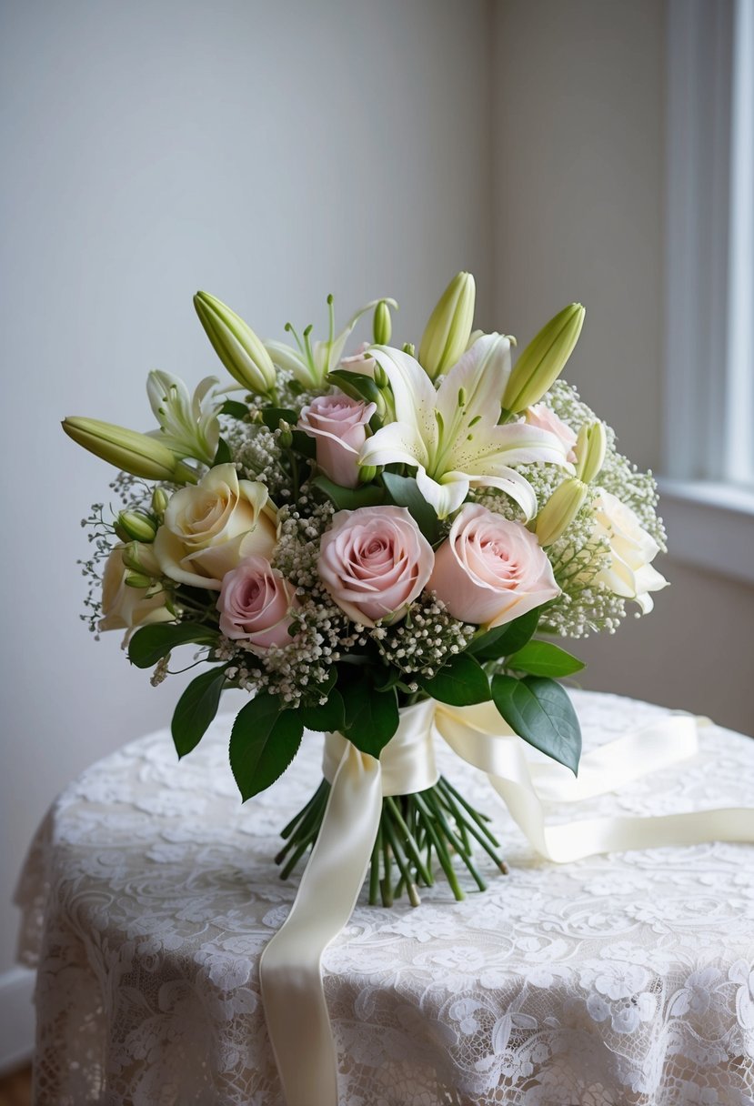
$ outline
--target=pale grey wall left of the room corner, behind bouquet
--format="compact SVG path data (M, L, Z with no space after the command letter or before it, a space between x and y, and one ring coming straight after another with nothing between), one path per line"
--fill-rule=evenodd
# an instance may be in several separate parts
M206 288L261 333L370 298L416 334L459 269L491 299L484 0L7 4L0 983L32 832L179 690L78 622L78 520L108 470L67 414L151 424L144 382L216 365ZM15 979L15 977L14 977ZM1 1042L0 1042L1 1045ZM1 1051L1 1048L0 1048Z

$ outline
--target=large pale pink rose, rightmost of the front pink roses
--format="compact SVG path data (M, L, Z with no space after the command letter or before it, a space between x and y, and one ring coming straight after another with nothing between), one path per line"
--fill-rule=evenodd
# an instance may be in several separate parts
M454 618L502 626L559 595L534 534L479 503L467 503L434 555L428 587Z

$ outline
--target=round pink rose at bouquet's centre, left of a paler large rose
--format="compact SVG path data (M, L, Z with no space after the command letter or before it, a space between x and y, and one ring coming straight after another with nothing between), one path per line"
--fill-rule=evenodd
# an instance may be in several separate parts
M320 576L353 622L397 622L429 580L434 554L405 507L338 511L322 539Z

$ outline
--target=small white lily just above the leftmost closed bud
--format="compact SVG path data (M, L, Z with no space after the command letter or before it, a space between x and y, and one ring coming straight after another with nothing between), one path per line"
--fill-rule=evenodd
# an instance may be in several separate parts
M149 373L147 395L160 425L160 429L153 430L149 436L177 457L193 457L211 465L220 440L218 411L223 398L212 394L219 383L217 376L206 376L191 396L179 377L159 369Z

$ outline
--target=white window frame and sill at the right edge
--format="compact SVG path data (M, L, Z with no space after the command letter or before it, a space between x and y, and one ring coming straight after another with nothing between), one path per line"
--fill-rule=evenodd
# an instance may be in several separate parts
M740 395L741 373L751 377L751 359L745 366L741 357L752 327L736 326L751 279L746 291L740 236L731 233L746 198L732 163L732 129L741 122L733 81L736 31L742 17L752 19L751 8L754 0L668 6L666 477L659 483L672 555L754 583L754 484L731 479L741 458L730 445L741 430L751 434L742 407L754 401L751 392Z

